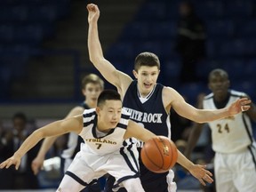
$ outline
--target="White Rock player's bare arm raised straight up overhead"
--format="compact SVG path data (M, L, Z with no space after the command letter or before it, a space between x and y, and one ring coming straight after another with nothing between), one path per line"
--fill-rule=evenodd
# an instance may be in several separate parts
M121 96L124 96L128 86L132 82L132 78L123 72L117 70L108 60L104 58L99 32L98 20L100 10L96 4L88 4L88 51L90 60L95 68L100 71L100 74L110 83L116 86Z

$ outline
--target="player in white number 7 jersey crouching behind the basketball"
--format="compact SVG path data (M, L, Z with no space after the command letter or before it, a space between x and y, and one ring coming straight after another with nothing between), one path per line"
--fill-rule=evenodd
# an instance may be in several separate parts
M17 170L21 157L43 138L76 132L84 139L84 145L68 167L57 191L79 192L93 179L109 173L116 178L116 184L124 185L127 191L143 192L136 156L125 154L123 142L132 137L147 141L156 135L130 120L130 114L122 105L121 96L116 91L101 92L97 108L85 109L83 115L56 121L36 130L12 157L0 164L0 168L9 168L13 164ZM198 177L212 182L212 173L204 170L204 166L194 166L181 156L178 156L178 162L182 161L186 168L193 166Z

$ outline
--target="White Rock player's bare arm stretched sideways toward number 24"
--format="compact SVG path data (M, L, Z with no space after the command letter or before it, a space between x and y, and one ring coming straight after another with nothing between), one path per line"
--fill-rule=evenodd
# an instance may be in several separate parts
M225 118L227 116L234 116L242 111L247 111L250 108L250 103L252 102L248 98L242 98L234 101L228 108L221 109L198 109L189 105L180 95L170 87L164 87L165 99L167 95L171 95L171 103L169 105L180 115L184 116L197 123L211 122L220 118ZM169 99L170 100L170 99ZM166 105L164 103L164 105Z

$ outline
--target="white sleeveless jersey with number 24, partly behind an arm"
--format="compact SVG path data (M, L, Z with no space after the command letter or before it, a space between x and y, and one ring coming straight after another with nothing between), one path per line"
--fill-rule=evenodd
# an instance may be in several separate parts
M241 97L244 92L230 91L230 98L226 107ZM213 102L213 93L204 97L203 108L217 109ZM252 124L249 116L239 113L236 116L215 120L210 123L212 130L212 148L215 152L236 153L252 145Z

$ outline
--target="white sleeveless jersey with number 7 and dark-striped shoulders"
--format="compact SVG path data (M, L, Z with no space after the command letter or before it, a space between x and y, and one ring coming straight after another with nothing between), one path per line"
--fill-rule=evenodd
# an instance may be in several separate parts
M107 154L118 154L123 147L124 133L130 119L130 114L122 109L120 122L115 129L103 137L97 136L97 114L95 108L84 110L84 128L79 135L84 139L81 144L81 151L85 153L104 156Z

